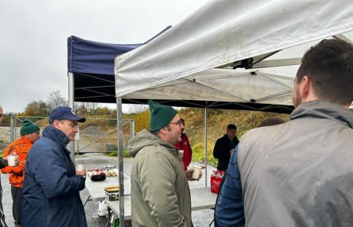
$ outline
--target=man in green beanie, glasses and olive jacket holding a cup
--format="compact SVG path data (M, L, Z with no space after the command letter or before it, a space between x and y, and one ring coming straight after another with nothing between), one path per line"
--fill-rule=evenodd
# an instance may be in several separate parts
M132 224L191 227L189 181L194 169L184 171L175 143L181 142L184 126L178 111L148 101L150 130L143 129L128 142L134 157L131 171ZM200 174L199 178L201 178Z

